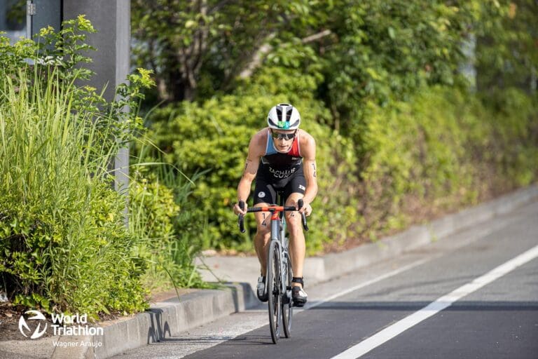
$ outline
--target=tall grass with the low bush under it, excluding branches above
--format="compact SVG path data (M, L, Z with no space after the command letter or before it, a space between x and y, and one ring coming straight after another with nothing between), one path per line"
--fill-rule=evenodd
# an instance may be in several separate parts
M72 88L54 76L29 93L20 76L0 99L1 283L16 304L45 310L144 309L125 199L103 172L115 152L100 140L115 121L71 112Z

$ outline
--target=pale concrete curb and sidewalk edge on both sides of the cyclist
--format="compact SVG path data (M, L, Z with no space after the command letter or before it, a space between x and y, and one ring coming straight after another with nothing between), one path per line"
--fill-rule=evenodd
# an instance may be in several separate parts
M361 245L347 252L307 258L305 280L308 285L337 278L368 264L379 262L421 245L460 231L472 224L538 201L538 185L520 189L462 210L422 226L412 226L395 236ZM0 341L4 358L109 358L131 348L160 341L193 327L212 322L256 305L252 288L259 266L255 257L206 257L198 259L207 266L202 277L208 281L228 281L222 290L198 290L171 297L151 305L146 313L122 318L103 326L103 335L87 337L48 337L34 341Z

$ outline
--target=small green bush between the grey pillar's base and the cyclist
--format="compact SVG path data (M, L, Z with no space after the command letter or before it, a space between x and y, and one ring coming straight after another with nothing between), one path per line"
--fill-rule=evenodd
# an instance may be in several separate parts
M192 220L186 202L196 177L176 176L169 165L158 165L163 167L154 172L151 166L136 165L130 182L129 229L137 238L134 254L147 265L144 287L151 292L172 285L204 287L193 264L201 249L202 228Z

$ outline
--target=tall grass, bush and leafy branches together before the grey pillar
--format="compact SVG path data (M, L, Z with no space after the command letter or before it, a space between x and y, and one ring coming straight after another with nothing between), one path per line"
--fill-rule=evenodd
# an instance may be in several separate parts
M38 43L0 36L0 276L15 303L95 318L147 306L107 168L141 125L123 107L135 109L151 81L129 76L109 103L75 86L90 76L77 64L92 31L81 16L43 29Z

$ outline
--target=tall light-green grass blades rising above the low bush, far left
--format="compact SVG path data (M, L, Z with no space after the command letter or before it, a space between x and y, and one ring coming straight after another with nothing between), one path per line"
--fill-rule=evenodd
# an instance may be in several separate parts
M104 126L102 121L92 121L91 113L71 111L74 86L60 83L54 70L36 74L32 86L25 69L18 76L17 83L9 76L0 80L4 82L0 93L2 184L19 195L22 203L39 196L56 204L51 208L61 208L67 199L85 197L83 183L105 174L116 148L113 142L99 142L97 137L107 135L106 130L96 134L97 126ZM43 84L39 76L50 80ZM75 181L81 183L69 185Z

